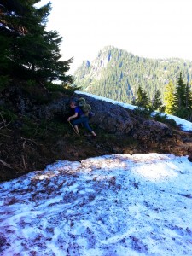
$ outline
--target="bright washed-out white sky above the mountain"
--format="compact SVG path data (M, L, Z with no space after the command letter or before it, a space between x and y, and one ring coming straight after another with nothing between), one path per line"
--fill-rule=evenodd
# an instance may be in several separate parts
M64 59L74 58L72 70L107 45L149 58L192 61L191 0L50 2L48 29L63 38L61 52Z

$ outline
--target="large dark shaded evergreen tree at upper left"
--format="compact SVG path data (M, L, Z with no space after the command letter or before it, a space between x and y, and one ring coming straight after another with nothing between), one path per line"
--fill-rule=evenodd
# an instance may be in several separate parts
M3 0L0 6L0 67L3 75L41 82L60 80L72 83L66 75L72 59L61 61L61 37L45 30L51 6L35 7L40 0ZM6 44L7 42L7 44Z

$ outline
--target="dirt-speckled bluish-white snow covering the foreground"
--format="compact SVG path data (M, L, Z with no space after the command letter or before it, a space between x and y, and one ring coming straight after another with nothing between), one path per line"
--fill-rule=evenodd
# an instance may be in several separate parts
M59 160L0 183L0 255L192 255L191 184L187 156Z

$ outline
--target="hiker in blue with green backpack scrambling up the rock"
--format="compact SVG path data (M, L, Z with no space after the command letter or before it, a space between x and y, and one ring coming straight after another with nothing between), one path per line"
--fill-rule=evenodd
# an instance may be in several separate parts
M77 106L77 103L75 101L70 102L70 108L74 110L74 114L70 116L67 121L70 122L71 119L73 119L71 123L74 126L75 131L79 133L78 125L83 124L84 128L90 131L93 137L96 137L96 133L90 128L88 116L84 114L79 106Z

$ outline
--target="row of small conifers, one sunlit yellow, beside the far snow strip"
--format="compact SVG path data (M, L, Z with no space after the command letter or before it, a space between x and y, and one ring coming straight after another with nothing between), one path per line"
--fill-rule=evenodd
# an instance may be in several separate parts
M174 86L172 82L167 84L165 91L166 106L162 106L160 101L160 91L157 90L154 95L154 102L150 104L148 102L148 96L145 91L139 85L137 90L137 98L132 101L132 104L137 105L135 113L138 115L150 118L154 110L158 109L161 113L153 113L154 119L161 122L168 122L169 124L176 125L174 121L167 121L167 116L162 112L166 109L166 113L173 113L174 115L183 119L192 120L192 92L189 84L183 83L182 74L177 81L176 92L173 91Z

